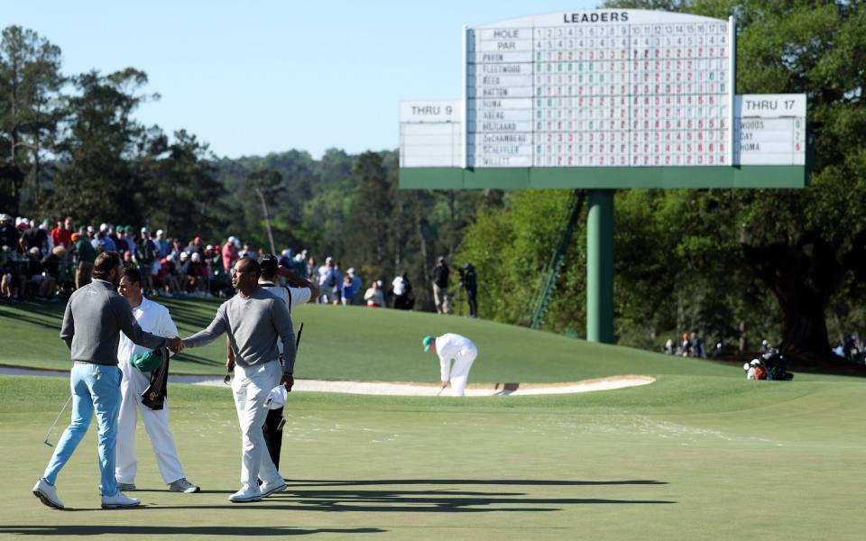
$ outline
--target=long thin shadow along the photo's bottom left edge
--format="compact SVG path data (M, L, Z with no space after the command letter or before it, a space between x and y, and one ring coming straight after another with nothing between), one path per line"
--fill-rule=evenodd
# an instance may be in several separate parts
M309 536L313 534L382 534L379 527L256 527L256 526L6 526L0 535L18 536Z

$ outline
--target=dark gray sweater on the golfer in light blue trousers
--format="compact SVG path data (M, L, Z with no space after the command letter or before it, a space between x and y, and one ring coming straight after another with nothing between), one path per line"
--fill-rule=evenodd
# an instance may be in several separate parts
M106 280L93 280L69 298L60 338L69 347L73 361L116 366L121 331L145 347L168 345L165 338L142 330L129 301Z

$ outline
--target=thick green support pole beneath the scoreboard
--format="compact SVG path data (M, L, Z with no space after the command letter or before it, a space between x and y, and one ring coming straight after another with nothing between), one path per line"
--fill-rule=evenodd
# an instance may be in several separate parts
M589 191L586 340L613 344L613 190Z

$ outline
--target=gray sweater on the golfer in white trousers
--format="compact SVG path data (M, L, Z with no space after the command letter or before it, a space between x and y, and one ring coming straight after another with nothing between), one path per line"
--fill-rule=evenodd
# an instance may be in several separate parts
M238 293L217 309L207 329L184 338L187 347L198 347L228 333L235 363L244 368L280 358L277 340L282 341L283 371L295 369L295 332L289 308L280 298L260 286L249 297Z

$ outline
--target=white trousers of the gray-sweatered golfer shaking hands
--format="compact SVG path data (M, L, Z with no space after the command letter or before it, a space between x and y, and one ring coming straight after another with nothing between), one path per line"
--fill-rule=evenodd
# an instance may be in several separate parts
M250 487L258 486L259 478L263 481L281 480L262 434L264 419L268 416L264 401L280 383L281 371L282 367L277 361L249 368L235 366L232 391L235 394L237 420L241 426L241 484Z

